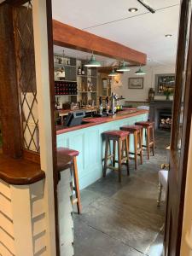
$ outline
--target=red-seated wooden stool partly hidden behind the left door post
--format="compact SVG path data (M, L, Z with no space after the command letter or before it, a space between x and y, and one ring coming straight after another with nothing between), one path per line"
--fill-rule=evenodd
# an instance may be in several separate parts
M61 152L63 155L68 155L72 157L72 171L73 171L73 179L74 179L74 187L75 191L75 199L73 199L72 203L77 204L78 213L82 212L81 200L80 200L80 190L79 190L79 177L78 177L78 165L77 165L77 156L79 155L79 151L70 149L70 148L57 148L57 151Z

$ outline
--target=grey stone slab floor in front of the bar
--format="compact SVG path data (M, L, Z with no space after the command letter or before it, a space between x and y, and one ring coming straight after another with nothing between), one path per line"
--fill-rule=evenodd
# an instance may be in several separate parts
M75 256L162 255L165 202L156 206L158 171L166 163L170 133L155 134L155 156L131 175L110 173L81 191L83 213L75 214ZM164 195L165 196L165 195Z

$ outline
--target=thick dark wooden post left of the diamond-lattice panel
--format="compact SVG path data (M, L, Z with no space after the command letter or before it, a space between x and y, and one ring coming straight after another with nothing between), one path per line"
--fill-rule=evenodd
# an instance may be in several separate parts
M21 156L20 112L15 71L15 44L12 7L0 5L0 120L3 153Z

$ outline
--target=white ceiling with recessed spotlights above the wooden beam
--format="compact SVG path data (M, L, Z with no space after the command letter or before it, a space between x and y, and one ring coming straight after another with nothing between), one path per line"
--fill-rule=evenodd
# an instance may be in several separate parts
M143 51L150 65L172 65L177 52L180 0L148 3L156 9L155 14L137 0L52 0L53 19ZM138 11L128 12L132 7ZM170 33L172 38L165 38Z

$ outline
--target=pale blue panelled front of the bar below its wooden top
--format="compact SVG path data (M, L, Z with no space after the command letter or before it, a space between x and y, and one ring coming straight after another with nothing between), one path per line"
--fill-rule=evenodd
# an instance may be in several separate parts
M73 148L79 151L79 186L84 189L102 177L102 157L104 143L102 132L119 130L123 125L134 125L137 121L146 121L148 113L116 119L104 124L83 127L76 131L67 131L57 135L57 147ZM133 148L133 137L130 138L130 149Z

